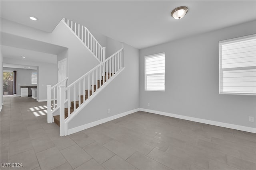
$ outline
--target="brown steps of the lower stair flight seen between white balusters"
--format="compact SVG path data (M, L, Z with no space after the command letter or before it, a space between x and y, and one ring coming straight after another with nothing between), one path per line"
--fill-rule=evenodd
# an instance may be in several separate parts
M107 72L105 72L105 82L107 81L107 78L109 79L109 78L112 77L112 76L113 76L113 73L109 73L109 72L108 72L108 76L107 76ZM103 76L102 76L102 79L103 79ZM101 82L101 85L104 83L103 80L98 80L97 82L98 82L97 85L96 85L96 84L93 85L93 86L94 86L94 89L96 89L96 86L97 86L97 89L100 88L100 82ZM91 86L92 86L92 85L91 85ZM85 91L88 91L88 89L86 89ZM94 90L94 92L96 92L96 90ZM90 90L90 96L92 96L92 90ZM85 95L85 100L87 100L87 99L88 99L88 94ZM84 101L84 96L83 96L83 95L80 96L80 101L81 101L81 104L82 104L83 101ZM74 106L76 107L76 109L79 107L79 101L78 101L78 100L75 102L75 104L74 104L73 101L71 102L70 114L73 113L73 111L74 111ZM65 108L65 119L66 119L67 117L68 117L68 108ZM54 116L54 122L55 122L58 126L60 126L60 115Z

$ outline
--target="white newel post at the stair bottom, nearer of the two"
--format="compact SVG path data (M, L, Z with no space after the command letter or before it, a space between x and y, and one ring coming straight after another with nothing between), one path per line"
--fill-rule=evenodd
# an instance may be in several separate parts
M65 135L65 86L58 86L60 99L60 136Z

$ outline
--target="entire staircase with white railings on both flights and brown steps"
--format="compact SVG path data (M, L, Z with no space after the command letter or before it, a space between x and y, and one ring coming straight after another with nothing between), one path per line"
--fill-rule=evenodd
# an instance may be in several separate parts
M68 86L68 78L52 87L47 85L47 122L55 122L60 126L60 136L66 136L74 133L68 131L69 121L124 70L124 64L123 48L106 59L105 47L98 43L86 27L66 18L63 18L62 22L99 61L97 66Z

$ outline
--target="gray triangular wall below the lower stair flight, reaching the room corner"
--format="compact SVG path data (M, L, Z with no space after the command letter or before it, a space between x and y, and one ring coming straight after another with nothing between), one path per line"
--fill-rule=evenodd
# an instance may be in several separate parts
M139 107L138 49L124 44L124 58L124 70L68 123L68 129Z

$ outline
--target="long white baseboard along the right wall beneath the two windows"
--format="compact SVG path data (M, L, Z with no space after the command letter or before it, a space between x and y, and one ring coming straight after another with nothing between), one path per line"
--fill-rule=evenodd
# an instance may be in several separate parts
M166 113L166 112L156 111L156 110L151 110L151 109L144 109L144 108L139 108L139 109L140 109L140 111L146 111L146 112L154 113L154 114L158 114L158 115L176 117L179 119L185 119L185 120L195 121L195 122L199 122L199 123L205 123L205 124L209 124L209 125L215 125L215 126L226 127L226 128L230 128L230 129L236 129L236 130L240 130L240 131L256 133L256 128L253 128L253 127L246 127L246 126L234 125L234 124L230 124L230 123L223 123L223 122L219 122L219 121L212 121L212 120L200 119L200 118L189 117L189 116L184 116L184 115L177 115L177 114L173 114L173 113Z

